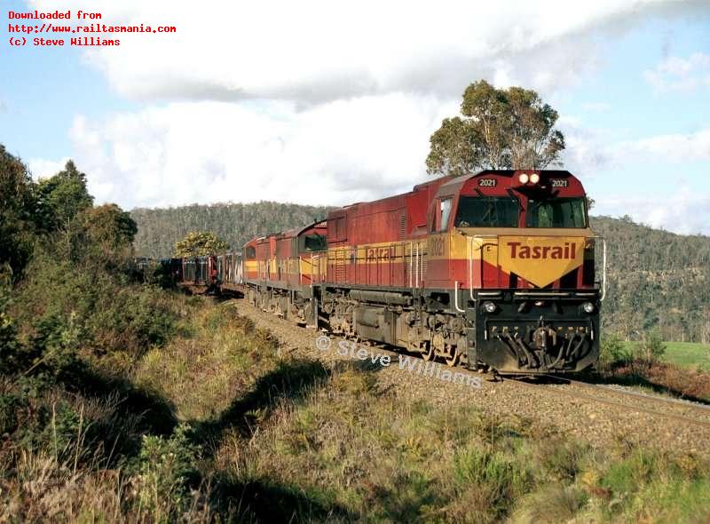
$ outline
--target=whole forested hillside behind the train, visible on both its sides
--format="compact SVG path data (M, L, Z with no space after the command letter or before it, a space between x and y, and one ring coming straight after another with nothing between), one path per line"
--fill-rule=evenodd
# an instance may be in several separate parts
M190 231L214 231L235 247L255 234L325 218L327 210L278 202L219 203L137 209L131 216L138 223L137 253L167 257ZM592 227L609 249L603 315L608 332L634 339L659 329L667 340L710 341L710 237L659 231L629 218L596 217Z

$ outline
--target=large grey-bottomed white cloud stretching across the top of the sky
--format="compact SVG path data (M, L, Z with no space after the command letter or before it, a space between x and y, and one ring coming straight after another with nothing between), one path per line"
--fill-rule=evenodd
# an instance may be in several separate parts
M37 9L69 0L30 0ZM114 89L133 99L287 99L312 105L405 91L449 99L478 77L552 91L599 61L600 31L696 1L508 0L434 4L361 0L347 9L303 2L92 3L106 24L171 25L175 34L122 34L86 50ZM603 38L603 40L607 40Z

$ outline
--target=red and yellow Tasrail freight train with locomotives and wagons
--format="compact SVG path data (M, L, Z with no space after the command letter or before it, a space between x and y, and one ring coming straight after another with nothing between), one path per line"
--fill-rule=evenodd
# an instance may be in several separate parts
M489 170L353 203L240 252L163 264L180 282L242 290L317 329L532 375L596 363L605 250L570 172Z

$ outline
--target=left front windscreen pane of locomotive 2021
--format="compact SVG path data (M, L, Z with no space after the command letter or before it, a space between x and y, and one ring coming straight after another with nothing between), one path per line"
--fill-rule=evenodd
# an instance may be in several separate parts
M520 204L510 196L461 196L456 227L517 227Z

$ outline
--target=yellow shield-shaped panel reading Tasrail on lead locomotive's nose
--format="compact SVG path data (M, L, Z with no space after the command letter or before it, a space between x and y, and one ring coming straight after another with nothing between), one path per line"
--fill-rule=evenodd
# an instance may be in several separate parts
M501 236L498 263L508 274L544 288L584 261L584 238L569 236Z

